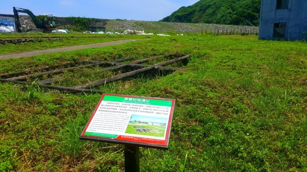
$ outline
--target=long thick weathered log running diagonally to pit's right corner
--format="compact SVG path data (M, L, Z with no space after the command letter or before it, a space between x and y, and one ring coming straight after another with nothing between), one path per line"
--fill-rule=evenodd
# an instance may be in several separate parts
M87 83L87 84L84 84L84 85L75 86L74 88L91 88L91 87L94 87L94 86L97 86L97 85L102 85L102 84L106 84L106 83L110 83L110 82L115 82L115 81L118 81L118 80L121 80L121 79L124 79L124 78L127 78L127 77L131 77L131 76L137 75L138 73L141 73L141 72L145 72L145 71L152 70L152 69L159 69L163 65L168 65L168 64L171 64L171 63L174 63L174 62L186 59L188 57L189 57L189 55L183 56L183 57L179 57L179 58L168 60L168 61L165 61L165 62L162 62L162 63L154 64L154 65L151 65L151 66L148 66L148 67L143 67L141 69L137 69L137 70L133 70L133 71L130 71L130 72L122 73L122 74L119 74L119 75L116 75L116 76L113 76L113 77L110 77L110 78L104 78L104 79L93 81L91 83ZM132 65L132 64L130 64L130 65ZM125 66L127 66L127 64L125 64ZM118 67L118 66L115 66L115 67Z

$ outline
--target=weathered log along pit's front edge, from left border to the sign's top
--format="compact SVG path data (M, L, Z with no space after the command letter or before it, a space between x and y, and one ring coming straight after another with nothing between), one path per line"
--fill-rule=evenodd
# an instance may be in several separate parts
M15 80L8 80L8 79L0 79L0 82L10 82L10 83L14 83L14 84L24 84L24 85L31 85L32 84L30 82L15 81ZM35 84L42 86L42 87L49 88L49 89L56 89L56 90L67 91L67 92L84 92L84 93L99 93L99 94L103 93L101 90L82 89L82 88L73 88L73 87L61 87L61 86L40 84L40 83L37 83L37 82Z

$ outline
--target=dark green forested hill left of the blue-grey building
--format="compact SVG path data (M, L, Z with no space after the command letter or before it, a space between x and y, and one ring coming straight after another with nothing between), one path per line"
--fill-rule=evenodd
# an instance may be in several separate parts
M201 0L181 7L161 21L259 25L260 0Z

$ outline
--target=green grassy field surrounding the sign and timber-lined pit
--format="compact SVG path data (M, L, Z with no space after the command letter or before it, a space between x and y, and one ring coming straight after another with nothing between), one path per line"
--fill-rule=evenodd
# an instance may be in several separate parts
M139 76L96 88L176 99L169 150L141 148L141 171L307 171L306 42L200 34L146 38L151 39L0 60L0 73L86 59L191 54L186 66L172 65L182 69L171 75ZM33 42L30 50L48 44ZM7 49L1 53L25 51L24 46L1 45ZM81 70L82 76L67 72L61 77L68 81L61 84L116 72L101 74L95 67ZM74 81L76 76L83 81ZM78 138L101 95L48 92L35 85L0 83L0 171L124 171L122 145Z

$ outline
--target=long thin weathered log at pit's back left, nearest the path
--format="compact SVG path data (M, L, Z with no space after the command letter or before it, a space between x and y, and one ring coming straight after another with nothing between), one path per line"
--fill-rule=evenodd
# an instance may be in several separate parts
M124 59L124 61L125 60L129 60L129 59ZM122 59L115 60L115 61L122 61ZM63 73L65 71L74 70L77 68L92 67L92 66L97 66L97 65L102 65L102 64L112 65L113 63L114 62L99 62L99 63L92 63L92 64L87 64L87 65L82 65L82 66L76 66L76 67L61 68L61 69L55 69L55 70L50 70L50 71L33 73L30 75L13 77L13 78L9 78L9 80L25 80L26 78L38 77L38 76L43 76L43 75L55 75L55 74Z

